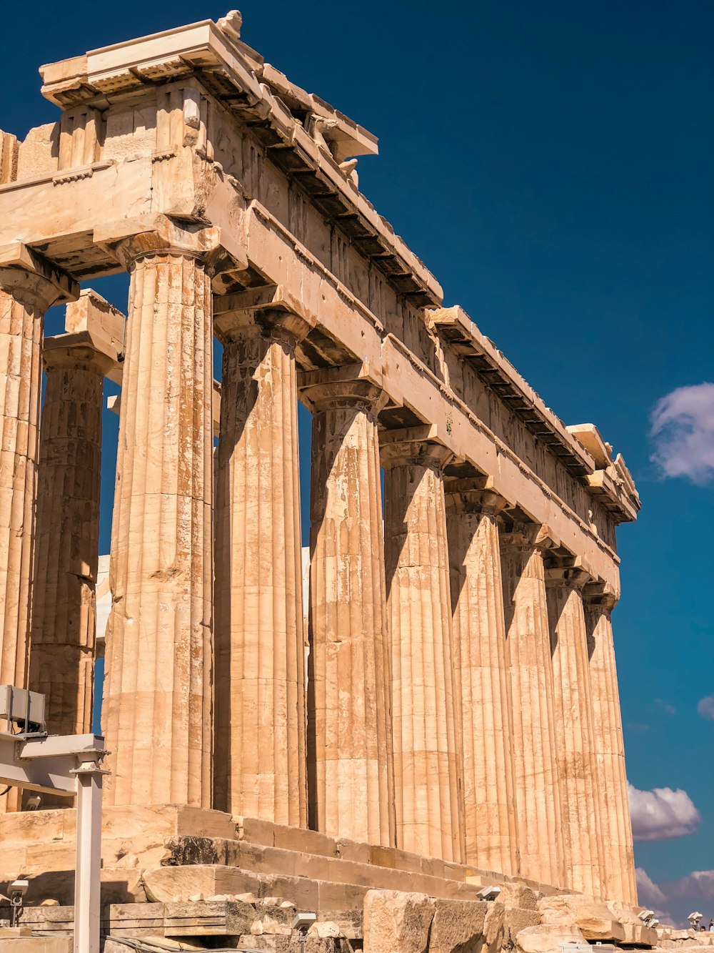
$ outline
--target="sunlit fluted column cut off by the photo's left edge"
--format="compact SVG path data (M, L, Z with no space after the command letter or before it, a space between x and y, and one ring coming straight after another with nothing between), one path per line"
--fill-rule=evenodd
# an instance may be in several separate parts
M0 267L0 684L26 686L43 319L77 289L24 246L13 251L17 263Z

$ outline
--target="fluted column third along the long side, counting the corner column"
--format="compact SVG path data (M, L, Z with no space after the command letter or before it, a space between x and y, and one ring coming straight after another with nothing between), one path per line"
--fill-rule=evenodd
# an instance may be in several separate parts
M303 390L312 411L310 820L330 837L388 846L394 778L377 438L385 398L350 371L308 374Z

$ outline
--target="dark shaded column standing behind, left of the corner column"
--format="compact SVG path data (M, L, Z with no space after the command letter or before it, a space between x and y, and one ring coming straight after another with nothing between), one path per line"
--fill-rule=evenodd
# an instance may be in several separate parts
M50 734L91 730L104 375L113 361L79 335L45 342L30 687Z

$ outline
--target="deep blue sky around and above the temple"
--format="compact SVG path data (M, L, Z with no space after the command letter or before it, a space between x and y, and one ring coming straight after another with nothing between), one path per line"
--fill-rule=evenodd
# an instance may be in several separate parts
M55 118L41 63L225 12L7 5L0 127ZM643 498L619 534L614 616L628 775L684 789L702 814L695 834L638 844L637 862L656 881L711 870L714 721L697 703L714 694L714 495L711 480L663 478L648 430L664 395L714 381L714 5L247 0L242 12L249 45L379 136L362 191L446 303L566 423L598 424L625 455ZM121 281L98 287L125 306ZM681 918L688 902L670 906ZM698 903L714 914L714 889Z

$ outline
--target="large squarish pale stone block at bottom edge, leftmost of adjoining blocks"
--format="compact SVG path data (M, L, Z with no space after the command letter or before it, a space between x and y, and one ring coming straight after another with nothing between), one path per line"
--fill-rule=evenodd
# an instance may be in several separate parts
M426 953L434 912L426 894L367 890L365 953Z

